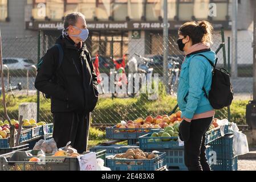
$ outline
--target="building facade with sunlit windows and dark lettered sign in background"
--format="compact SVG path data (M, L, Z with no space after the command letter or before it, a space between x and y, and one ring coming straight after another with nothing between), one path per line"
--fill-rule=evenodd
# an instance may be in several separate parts
M92 55L154 55L162 47L162 0L0 0L0 26L6 38L59 36L58 27L72 11L86 16ZM168 0L169 34L190 20L209 20L231 36L231 0ZM238 36L251 39L253 0L238 1ZM250 43L251 44L251 43Z

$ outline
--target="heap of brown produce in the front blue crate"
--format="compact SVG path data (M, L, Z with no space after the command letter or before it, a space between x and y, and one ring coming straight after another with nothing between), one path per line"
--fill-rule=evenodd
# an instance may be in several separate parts
M113 159L130 159L131 161L125 161L121 163L117 161L116 164L128 164L128 165L141 165L143 162L139 160L151 160L154 159L156 155L154 153L143 152L139 148L129 148L123 154L116 154ZM138 161L136 161L138 160Z

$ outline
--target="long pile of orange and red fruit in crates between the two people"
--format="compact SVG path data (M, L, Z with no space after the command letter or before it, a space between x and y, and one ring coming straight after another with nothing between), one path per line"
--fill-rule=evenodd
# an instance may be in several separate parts
M134 121L129 120L127 122L122 121L117 123L115 126L116 130L115 133L120 132L149 132L150 129L164 129L165 127L172 126L176 123L180 123L181 119L181 111L177 111L172 115L157 115L153 118L151 115L143 118L137 118Z

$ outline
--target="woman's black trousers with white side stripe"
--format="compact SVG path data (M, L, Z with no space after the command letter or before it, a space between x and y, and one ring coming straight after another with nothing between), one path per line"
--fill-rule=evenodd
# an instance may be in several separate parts
M191 121L190 136L188 141L184 142L184 160L189 171L210 171L206 158L205 138L212 120L213 117Z

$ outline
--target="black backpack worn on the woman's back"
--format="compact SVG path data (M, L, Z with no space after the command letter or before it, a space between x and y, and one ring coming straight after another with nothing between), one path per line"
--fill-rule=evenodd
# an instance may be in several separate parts
M216 110L230 106L234 98L234 93L230 83L229 72L224 68L216 69L218 59L216 59L216 63L213 64L205 55L196 56L205 57L213 67L213 78L209 96L207 95L205 88L202 88L206 98L210 101L210 105L212 105L213 109Z

